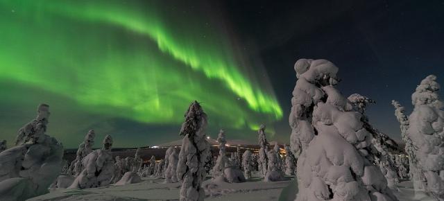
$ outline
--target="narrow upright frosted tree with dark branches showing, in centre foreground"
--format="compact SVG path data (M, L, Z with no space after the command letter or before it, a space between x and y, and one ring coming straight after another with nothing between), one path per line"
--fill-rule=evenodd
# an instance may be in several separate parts
M210 154L210 143L205 139L207 114L197 101L191 103L180 129L184 135L177 166L178 180L182 181L180 200L203 200L205 191L200 187L205 179L204 163Z

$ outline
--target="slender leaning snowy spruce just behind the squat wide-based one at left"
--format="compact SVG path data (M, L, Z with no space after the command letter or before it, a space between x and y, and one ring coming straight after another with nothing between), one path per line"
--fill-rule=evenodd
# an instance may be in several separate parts
M90 152L92 152L92 146L94 146L94 137L96 134L94 130L89 130L83 139L83 142L78 145L76 152L76 159L71 161L71 165L68 169L68 175L78 176L85 168L82 164L83 158L85 158Z

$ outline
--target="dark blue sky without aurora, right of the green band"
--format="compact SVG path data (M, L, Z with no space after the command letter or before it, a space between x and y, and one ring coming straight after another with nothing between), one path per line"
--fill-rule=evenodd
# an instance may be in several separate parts
M230 1L225 6L244 48L264 62L286 117L299 58L334 62L342 93L376 100L368 109L370 123L395 139L400 131L391 100L410 112L411 94L422 78L435 74L443 83L444 1ZM279 125L284 140L290 133L287 118Z

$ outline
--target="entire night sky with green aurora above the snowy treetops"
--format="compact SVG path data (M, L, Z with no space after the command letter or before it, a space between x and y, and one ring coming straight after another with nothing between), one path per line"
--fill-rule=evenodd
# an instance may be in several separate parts
M422 78L444 80L444 1L309 2L0 0L0 138L48 103L48 134L67 148L89 129L114 147L155 145L179 139L198 100L212 137L256 141L266 123L287 142L293 64L324 58L400 139L391 100L410 112Z

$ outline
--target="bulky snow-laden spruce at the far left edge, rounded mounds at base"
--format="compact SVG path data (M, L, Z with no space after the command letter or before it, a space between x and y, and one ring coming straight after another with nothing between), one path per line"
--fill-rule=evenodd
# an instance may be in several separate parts
M62 169L63 146L45 134L49 105L20 128L14 147L0 153L0 200L26 200L48 192Z

